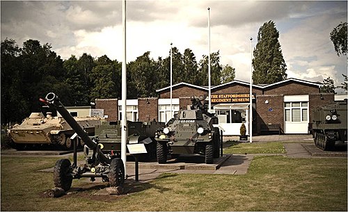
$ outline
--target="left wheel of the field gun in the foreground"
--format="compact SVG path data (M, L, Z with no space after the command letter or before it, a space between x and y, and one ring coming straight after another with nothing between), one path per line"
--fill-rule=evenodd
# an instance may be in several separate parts
M58 188L63 188L63 190L65 191L70 189L72 184L70 166L71 163L68 159L61 159L57 161L53 171L54 186Z

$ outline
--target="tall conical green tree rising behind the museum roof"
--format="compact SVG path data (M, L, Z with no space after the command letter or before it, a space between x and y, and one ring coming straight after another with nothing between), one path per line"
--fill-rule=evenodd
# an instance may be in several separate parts
M264 23L258 32L258 44L253 51L253 83L276 83L287 78L286 64L278 41L274 22Z

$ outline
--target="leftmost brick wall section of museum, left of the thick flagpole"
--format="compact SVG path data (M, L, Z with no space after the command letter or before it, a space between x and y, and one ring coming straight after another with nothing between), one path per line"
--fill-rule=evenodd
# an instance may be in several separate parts
M118 99L95 99L95 108L104 109L108 121L118 120Z

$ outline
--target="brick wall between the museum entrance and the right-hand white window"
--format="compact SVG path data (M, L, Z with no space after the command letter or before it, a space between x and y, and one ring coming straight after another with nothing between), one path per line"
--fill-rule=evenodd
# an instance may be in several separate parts
M268 100L268 104L264 103L266 100ZM258 133L260 133L261 124L280 124L281 131L284 131L283 102L283 95L258 95L256 97Z

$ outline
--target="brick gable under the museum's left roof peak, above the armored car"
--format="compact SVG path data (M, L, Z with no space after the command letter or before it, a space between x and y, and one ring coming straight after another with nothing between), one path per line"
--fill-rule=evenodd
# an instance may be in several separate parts
M208 95L207 90L201 90L198 88L192 88L187 85L180 86L179 88L175 87L173 88L173 98L179 98L179 97L191 97L196 96L199 97L200 95ZM161 99L169 99L171 98L171 90L164 90L159 94Z

